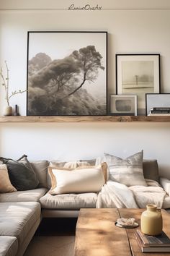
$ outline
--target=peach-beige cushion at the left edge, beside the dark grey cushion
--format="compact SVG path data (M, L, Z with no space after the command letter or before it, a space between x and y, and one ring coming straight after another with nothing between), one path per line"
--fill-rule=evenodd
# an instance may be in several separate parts
M10 182L6 164L0 164L0 193L14 191L17 191L17 189L15 189Z

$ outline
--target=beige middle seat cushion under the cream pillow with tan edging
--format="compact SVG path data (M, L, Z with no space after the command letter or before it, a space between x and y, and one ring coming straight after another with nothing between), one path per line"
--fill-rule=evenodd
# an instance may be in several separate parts
M42 208L47 209L79 209L95 208L97 193L50 195L40 198Z

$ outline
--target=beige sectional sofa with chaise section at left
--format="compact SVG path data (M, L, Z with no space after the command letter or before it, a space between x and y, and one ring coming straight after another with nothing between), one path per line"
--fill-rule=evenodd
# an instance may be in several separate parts
M96 208L97 192L51 195L48 166L61 161L30 161L39 181L36 189L0 193L0 256L22 256L42 218L77 217L80 208ZM74 163L75 164L75 163ZM76 162L76 166L82 162ZM84 163L83 163L84 164ZM95 160L86 164L95 165ZM156 160L143 161L146 179L158 181Z

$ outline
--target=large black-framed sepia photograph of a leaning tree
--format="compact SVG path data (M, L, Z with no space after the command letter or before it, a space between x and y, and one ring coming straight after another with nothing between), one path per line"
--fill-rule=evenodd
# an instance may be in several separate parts
M29 31L27 116L107 115L107 32Z

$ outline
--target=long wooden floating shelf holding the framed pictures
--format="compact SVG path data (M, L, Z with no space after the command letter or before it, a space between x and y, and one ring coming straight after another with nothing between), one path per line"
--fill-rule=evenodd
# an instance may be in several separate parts
M170 116L0 116L1 123L170 121Z

